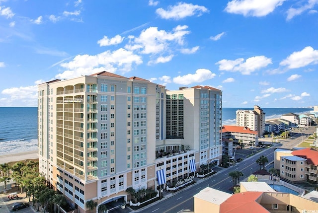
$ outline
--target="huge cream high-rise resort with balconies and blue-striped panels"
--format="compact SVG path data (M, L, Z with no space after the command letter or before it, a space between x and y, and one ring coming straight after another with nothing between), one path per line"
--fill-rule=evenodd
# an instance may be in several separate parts
M167 91L102 71L38 85L39 169L79 213L127 201L126 189L191 179L222 158L222 91ZM159 185L160 184L160 185Z

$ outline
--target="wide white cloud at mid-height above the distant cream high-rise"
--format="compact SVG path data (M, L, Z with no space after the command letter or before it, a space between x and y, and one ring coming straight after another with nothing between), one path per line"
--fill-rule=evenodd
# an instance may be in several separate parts
M223 59L216 63L221 71L239 71L241 74L251 74L251 72L267 67L272 64L272 60L265 56L254 56L246 59L226 60Z

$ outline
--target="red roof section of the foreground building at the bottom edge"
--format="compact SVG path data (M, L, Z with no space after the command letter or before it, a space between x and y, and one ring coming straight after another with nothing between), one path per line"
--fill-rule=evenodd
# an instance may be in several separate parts
M232 195L220 205L220 213L269 213L256 202L263 192L241 192Z

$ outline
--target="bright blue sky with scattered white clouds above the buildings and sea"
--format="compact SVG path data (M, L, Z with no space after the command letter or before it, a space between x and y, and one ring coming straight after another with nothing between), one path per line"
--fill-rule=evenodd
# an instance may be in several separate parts
M318 0L0 0L0 106L98 71L223 91L223 107L318 105Z

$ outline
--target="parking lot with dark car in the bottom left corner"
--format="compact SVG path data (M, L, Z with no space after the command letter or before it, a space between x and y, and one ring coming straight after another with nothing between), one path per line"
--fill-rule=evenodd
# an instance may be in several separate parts
M17 192L18 198L9 200L8 195L12 192ZM30 203L30 207L21 209L18 211L13 211L12 210L12 205L16 202L29 202L29 198L24 198L25 193L21 194L19 191L17 191L17 187L12 187L11 190L7 191L6 194L0 194L0 213L12 213L12 212L17 212L17 213L34 213L32 209L32 203Z

